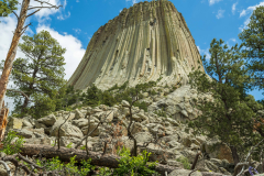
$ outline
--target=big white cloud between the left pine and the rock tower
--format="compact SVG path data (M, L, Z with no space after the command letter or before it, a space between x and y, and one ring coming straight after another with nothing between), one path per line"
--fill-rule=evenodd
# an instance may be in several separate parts
M67 33L61 34L54 29L51 29L46 25L38 26L36 29L36 32L40 32L42 30L48 31L51 35L57 40L62 47L65 47L67 50L64 54L66 63L64 68L66 74L65 79L69 79L85 55L85 48L82 48L81 42L73 35L69 35Z

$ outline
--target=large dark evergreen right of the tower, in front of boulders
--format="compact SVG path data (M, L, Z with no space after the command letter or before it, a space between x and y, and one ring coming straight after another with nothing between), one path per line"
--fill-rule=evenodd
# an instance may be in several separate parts
M252 80L240 57L238 44L228 48L222 40L213 38L209 52L209 63L206 56L202 57L205 70L209 76L195 70L189 74L189 78L198 95L209 94L213 100L201 97L195 100L196 108L202 113L189 125L195 128L196 132L209 138L218 136L228 144L234 164L238 164L239 153L245 151L245 145L251 145L260 139L258 134L253 133L253 118L262 106L253 96L246 95Z

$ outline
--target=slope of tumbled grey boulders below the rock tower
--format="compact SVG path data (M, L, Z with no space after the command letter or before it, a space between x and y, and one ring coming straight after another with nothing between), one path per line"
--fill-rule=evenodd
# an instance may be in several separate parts
M153 89L158 89L154 87ZM195 136L193 130L187 128L185 121L195 118L197 111L191 108L191 98L197 97L196 91L189 86L183 86L173 92L167 89L160 89L157 96L147 96L142 101L150 103L147 112L138 107L132 108L133 130L132 133L139 143L139 152L147 150L152 153L151 161L160 161L163 164L184 168L180 157L187 157L191 164L198 151L204 152L204 157L198 160L197 167L200 172L216 172L230 175L232 172L232 154L230 148L221 144L217 139L206 139L204 135ZM207 96L210 98L209 96ZM34 120L31 117L23 119L10 118L8 130L16 131L25 138L29 144L52 145L58 133L58 127L68 118L61 129L61 145L75 147L89 131L92 131L100 120L106 121L89 136L89 150L101 152L103 142L110 138L109 129L119 131L120 134L113 138L107 147L107 153L114 153L117 143L120 146L132 147L133 141L128 138L127 127L129 125L129 102L122 101L114 107L101 105L96 108L82 107L75 111L57 111L47 117ZM160 117L155 112L161 110L167 117ZM90 117L88 122L87 114ZM107 116L109 114L109 116ZM157 140L158 143L145 143ZM80 146L85 145L85 142ZM165 160L164 160L165 158ZM175 170L175 173L189 170ZM172 175L174 175L172 173ZM176 174L177 175L177 174ZM199 175L199 173L198 173ZM183 175L184 176L184 175Z

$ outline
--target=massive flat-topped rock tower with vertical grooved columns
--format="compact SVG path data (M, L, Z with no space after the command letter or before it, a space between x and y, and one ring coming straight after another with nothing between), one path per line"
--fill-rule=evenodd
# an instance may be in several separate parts
M96 84L107 89L127 80L134 86L160 77L160 85L176 84L182 77L187 84L199 59L189 29L172 2L140 2L94 34L68 85L85 89Z

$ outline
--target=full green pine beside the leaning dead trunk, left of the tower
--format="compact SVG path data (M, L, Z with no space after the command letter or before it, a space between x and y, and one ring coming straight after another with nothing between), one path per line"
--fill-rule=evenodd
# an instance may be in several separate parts
M25 58L16 58L13 63L11 80L18 90L23 91L34 103L29 111L30 100L10 92L14 98L16 112L42 112L55 110L55 96L66 84L64 80L64 57L66 52L47 31L34 36L24 35L19 45ZM22 102L23 99L23 102Z

